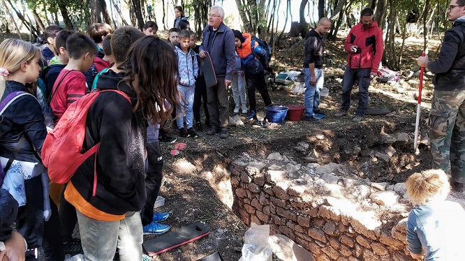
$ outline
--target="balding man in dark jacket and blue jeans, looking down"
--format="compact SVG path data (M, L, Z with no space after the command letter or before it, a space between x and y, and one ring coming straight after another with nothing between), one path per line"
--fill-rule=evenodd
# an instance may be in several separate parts
M320 88L323 88L325 77L323 75L323 35L331 29L331 20L323 17L316 29L312 29L305 36L304 45L304 75L305 75L305 117L307 121L316 121L315 112L319 112Z

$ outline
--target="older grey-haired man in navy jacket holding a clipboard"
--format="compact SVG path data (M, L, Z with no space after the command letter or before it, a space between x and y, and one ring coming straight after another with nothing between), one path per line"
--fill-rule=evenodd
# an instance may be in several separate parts
M235 43L234 33L223 24L223 17L223 8L212 6L208 25L203 30L199 57L205 58L205 52L209 52L218 82L212 87L207 87L207 107L212 124L212 129L207 131L207 135L221 132L220 137L226 139L229 137L228 87L235 71Z

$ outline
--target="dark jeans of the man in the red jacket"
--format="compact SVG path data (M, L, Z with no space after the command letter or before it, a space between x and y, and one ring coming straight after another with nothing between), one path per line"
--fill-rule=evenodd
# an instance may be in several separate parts
M363 116L368 108L368 87L370 86L371 68L350 69L346 67L342 80L341 110L348 111L350 107L350 94L355 80L358 80L358 107L355 115Z

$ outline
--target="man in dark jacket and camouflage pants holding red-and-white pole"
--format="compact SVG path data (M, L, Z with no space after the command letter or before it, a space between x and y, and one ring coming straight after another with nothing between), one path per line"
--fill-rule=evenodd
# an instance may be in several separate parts
M436 61L418 57L418 65L436 73L429 112L432 168L450 170L454 191L465 190L465 0L451 0L445 32Z

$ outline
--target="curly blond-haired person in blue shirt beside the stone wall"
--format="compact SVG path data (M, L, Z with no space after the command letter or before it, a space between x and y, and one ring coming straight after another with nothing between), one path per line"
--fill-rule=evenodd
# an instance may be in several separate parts
M464 260L465 211L457 202L445 200L450 193L443 170L414 173L406 181L407 195L415 204L408 214L407 243L413 258Z

